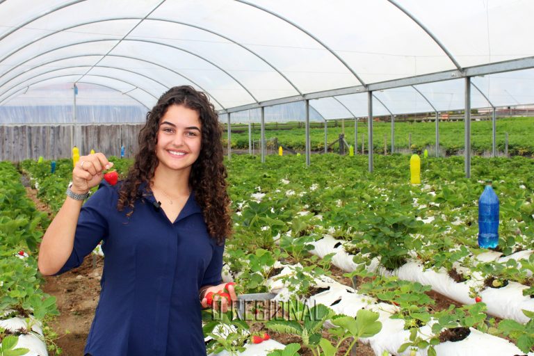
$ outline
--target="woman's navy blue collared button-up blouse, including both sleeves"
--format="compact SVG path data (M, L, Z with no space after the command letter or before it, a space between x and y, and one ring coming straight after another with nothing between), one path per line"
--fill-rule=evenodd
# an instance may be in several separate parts
M102 291L84 353L206 355L198 291L222 283L224 244L207 233L193 193L174 223L151 193L129 218L117 202L118 186L102 183L81 208L74 249L58 272L80 266L102 240Z

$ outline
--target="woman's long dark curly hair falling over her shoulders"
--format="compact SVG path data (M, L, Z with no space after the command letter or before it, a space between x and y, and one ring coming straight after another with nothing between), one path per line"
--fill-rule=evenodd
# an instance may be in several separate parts
M221 243L232 234L230 217L230 199L227 193L227 171L223 164L223 129L218 115L204 92L191 86L170 88L159 98L147 113L147 122L138 136L139 148L135 162L119 191L117 208L123 211L129 207L133 213L133 204L139 197L138 191L143 182L150 186L154 172L159 163L156 157L156 143L159 121L170 105L184 105L197 111L202 124L200 155L191 167L189 184L193 188L197 203L202 208L208 233Z

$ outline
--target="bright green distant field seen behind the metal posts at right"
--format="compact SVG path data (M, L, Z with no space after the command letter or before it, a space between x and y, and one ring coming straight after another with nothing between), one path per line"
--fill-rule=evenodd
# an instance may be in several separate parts
M232 126L232 148L248 149L248 128ZM497 120L497 150L505 151L505 133L508 132L508 153L512 156L534 156L534 118L502 118ZM337 127L328 128L328 143L334 142L341 133L341 123ZM412 147L409 149L408 140L412 136ZM358 149L362 149L362 134L365 136L365 150L367 144L367 125L358 124ZM325 134L323 127L310 129L313 151L323 151L325 147ZM226 138L226 135L224 135ZM260 138L259 124L255 124L252 138L256 141ZM293 129L275 129L274 124L269 124L266 129L266 138L277 138L280 145L291 149L305 149L305 129L295 127ZM345 139L349 145L354 144L354 124L345 124ZM388 122L373 122L373 149L374 152L384 152L384 140L387 142L387 152L391 149L391 124ZM458 154L464 149L464 122L439 122L439 143L442 152L447 155ZM258 143L254 143L258 146ZM272 141L268 143L273 145ZM397 122L395 124L395 148L401 151L412 149L422 151L428 148L429 154L433 154L432 147L435 145L434 122ZM338 149L337 145L332 146ZM471 150L474 154L491 153L492 151L492 122L471 121Z

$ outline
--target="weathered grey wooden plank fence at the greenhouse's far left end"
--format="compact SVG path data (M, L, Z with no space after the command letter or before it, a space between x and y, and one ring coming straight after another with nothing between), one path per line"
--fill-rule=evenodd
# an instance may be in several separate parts
M60 159L72 156L72 145L80 154L91 149L106 156L120 156L124 145L125 156L133 156L137 137L143 124L102 125L19 125L0 126L0 161L19 162L24 159Z

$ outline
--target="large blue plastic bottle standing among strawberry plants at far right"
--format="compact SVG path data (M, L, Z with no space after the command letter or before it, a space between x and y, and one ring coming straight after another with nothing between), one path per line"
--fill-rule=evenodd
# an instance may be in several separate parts
M499 197L489 183L478 200L478 245L496 248L499 243Z

